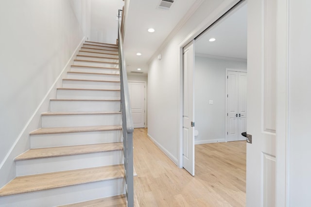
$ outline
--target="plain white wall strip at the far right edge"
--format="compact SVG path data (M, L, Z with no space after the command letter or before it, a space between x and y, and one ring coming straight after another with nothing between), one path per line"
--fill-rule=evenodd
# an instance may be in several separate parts
M291 0L287 175L290 207L311 203L311 2Z

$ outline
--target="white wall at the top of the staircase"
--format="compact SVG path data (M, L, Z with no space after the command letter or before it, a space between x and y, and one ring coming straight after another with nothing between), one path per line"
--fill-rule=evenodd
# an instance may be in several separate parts
M123 5L123 0L91 0L91 41L117 43L118 21L116 17Z

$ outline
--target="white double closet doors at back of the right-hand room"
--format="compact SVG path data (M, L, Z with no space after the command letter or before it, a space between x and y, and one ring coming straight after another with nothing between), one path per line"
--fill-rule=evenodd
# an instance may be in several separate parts
M227 71L227 141L242 141L246 131L247 73Z

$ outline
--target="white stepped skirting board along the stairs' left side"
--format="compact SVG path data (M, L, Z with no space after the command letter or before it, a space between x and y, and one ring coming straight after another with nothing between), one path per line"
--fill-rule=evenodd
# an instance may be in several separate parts
M0 163L0 188L16 177L16 165L14 159L30 148L29 133L41 127L41 113L49 111L50 98L56 97L56 88L61 86L62 79L63 77L65 77L67 71L69 71L70 65L73 63L73 59L79 52L79 49L82 47L84 40L85 37L83 37L79 45L76 47L67 64L65 65L59 76L56 78L51 88L47 92L46 96L44 96L24 128L20 131L16 141L6 154L5 158Z

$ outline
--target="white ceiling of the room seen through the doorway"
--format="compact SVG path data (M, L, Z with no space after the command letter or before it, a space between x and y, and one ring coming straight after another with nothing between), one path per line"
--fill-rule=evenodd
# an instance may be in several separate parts
M210 38L216 41L209 42ZM195 53L230 59L247 59L247 5L230 13L219 23L208 29L195 42Z

